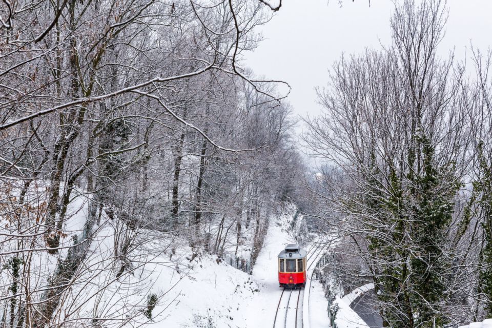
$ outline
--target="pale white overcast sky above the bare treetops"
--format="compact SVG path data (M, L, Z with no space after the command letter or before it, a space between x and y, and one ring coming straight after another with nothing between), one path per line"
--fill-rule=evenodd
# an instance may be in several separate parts
M492 44L491 0L448 0L449 19L439 52L455 48L464 59L465 48L485 51ZM265 38L245 65L255 73L287 81L293 88L289 101L296 114L316 115L317 86L326 85L327 70L342 53L358 54L380 49L390 38L390 0L283 0L275 17L261 28ZM469 50L468 50L469 55Z

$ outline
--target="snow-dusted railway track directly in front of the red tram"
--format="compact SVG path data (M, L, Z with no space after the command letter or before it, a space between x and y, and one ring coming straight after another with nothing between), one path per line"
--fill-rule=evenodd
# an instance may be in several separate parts
M285 293L285 290L290 291L290 293ZM297 293L297 299L294 297L294 299L291 301L294 291L299 291ZM289 296L286 296L286 294L289 294ZM277 311L275 312L273 328L302 327L301 294L304 294L304 290L302 288L298 290L284 288L282 290L282 294L280 294L280 299L278 300Z

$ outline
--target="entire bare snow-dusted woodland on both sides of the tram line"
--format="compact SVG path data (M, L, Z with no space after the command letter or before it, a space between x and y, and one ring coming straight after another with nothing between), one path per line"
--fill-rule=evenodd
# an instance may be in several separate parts
M149 323L142 268L181 248L250 272L286 202L385 326L492 318L492 52L438 56L445 3L397 1L392 43L333 65L299 144L288 83L241 60L277 11L0 3L0 327Z

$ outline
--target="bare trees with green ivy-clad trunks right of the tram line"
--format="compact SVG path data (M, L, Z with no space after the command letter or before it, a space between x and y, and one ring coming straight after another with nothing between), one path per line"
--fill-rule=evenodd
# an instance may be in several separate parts
M439 56L446 19L444 2L397 2L391 45L335 63L308 121L337 231L325 274L374 282L389 327L492 317L492 53Z

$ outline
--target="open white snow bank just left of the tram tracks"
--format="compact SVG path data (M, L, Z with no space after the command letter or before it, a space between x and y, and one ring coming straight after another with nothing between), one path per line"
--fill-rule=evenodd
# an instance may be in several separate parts
M252 277L214 256L203 256L190 265L182 275L162 272L156 287L176 286L155 309L164 317L154 326L245 327L249 305L259 293Z

